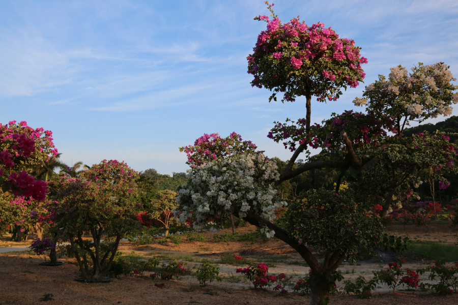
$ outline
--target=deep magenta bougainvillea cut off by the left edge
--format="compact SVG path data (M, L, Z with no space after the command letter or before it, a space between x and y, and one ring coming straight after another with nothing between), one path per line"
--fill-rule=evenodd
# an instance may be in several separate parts
M33 129L25 121L0 124L0 231L14 225L18 241L31 225L30 212L46 196L46 183L28 173L58 154L51 136L52 132Z

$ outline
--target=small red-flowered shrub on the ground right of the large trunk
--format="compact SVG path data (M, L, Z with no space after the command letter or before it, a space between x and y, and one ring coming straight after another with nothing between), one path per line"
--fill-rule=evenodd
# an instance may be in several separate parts
M393 289L393 292L394 289L400 285L407 285L417 289L420 283L418 273L411 269L403 270L402 266L405 262L405 260L391 262L388 264L388 270L374 271L373 280L377 283L381 282L387 284L388 287Z

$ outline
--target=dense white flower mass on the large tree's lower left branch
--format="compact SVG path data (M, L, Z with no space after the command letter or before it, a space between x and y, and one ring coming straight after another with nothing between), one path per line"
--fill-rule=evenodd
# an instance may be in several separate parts
M193 228L201 229L209 222L235 212L240 218L247 212L273 221L275 209L286 206L272 184L278 180L274 161L263 154L239 155L204 164L187 175L177 197L181 206L174 211L178 223L194 219ZM274 233L266 231L268 237Z

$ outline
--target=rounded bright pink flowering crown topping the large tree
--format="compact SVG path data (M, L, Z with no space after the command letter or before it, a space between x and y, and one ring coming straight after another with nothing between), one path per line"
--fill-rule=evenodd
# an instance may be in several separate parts
M283 23L267 2L273 19L265 21L267 29L257 38L253 53L249 54L248 73L254 76L252 86L263 86L282 101L295 101L298 96L317 96L319 101L337 100L340 88L356 87L365 77L361 68L367 59L351 39L341 38L323 23L308 26L293 18Z

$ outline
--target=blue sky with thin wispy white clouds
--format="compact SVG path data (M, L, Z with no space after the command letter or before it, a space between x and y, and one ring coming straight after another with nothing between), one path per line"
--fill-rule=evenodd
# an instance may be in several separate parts
M445 62L458 76L455 0L274 3L282 21L300 15L354 39L369 61L366 85L417 62ZM267 89L251 87L246 56L265 29L253 20L260 14L268 15L261 0L2 1L0 122L51 130L67 163L118 159L182 172L179 146L233 131L289 159L266 136L274 120L304 117L305 104L268 103ZM363 88L312 103L312 121L353 109Z

